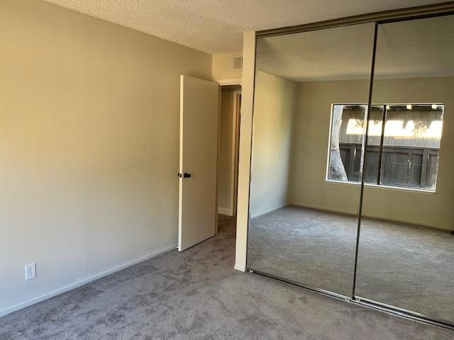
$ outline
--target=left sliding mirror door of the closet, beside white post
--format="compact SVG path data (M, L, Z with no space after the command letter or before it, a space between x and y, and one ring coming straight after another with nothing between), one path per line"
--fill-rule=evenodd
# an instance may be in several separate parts
M257 40L248 268L352 296L374 30Z

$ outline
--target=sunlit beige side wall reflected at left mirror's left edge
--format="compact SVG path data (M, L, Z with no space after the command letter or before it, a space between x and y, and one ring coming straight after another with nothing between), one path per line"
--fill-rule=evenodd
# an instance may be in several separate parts
M289 203L292 116L297 83L258 71L255 74L250 216Z

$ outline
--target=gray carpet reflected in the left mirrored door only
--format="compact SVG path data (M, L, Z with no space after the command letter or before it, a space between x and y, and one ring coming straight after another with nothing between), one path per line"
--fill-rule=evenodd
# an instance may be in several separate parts
M294 205L250 221L248 266L351 296L358 219Z

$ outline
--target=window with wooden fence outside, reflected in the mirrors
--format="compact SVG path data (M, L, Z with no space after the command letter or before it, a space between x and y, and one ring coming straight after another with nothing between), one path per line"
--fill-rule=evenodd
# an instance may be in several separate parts
M443 108L442 103L373 105L365 183L435 191ZM328 181L360 183L366 114L366 104L333 104Z

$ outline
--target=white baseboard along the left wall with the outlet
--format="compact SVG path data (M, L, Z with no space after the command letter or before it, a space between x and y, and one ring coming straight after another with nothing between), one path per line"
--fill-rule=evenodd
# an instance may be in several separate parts
M143 261L146 261L148 259L151 259L151 258L153 258L155 256L163 254L163 253L165 253L167 251L170 251L172 249L177 249L177 244L174 244L172 246L167 246L164 249L160 249L158 251L153 251L153 253L150 253L148 255L139 257L138 259L135 259L133 261L129 261L129 262L123 263L120 266L116 266L114 268L110 268L110 269L108 269L106 271L103 271L101 273L97 273L94 276L90 276L89 278L84 278L82 280L77 280L76 282L71 283L70 285L65 285L65 287L58 288L57 290L52 290L52 292L50 292L50 293L46 293L46 294L40 295L38 297L33 297L33 299L26 300L24 302L18 303L17 305L13 305L11 307L6 307L3 310L0 310L0 317L4 317L6 314L10 314L12 312L16 312L16 310L21 310L21 309L23 309L25 307L28 307L28 306L31 306L31 305L35 305L35 303L38 303L38 302L41 302L41 301L44 301L44 300L48 300L48 299L50 299L50 297L54 297L56 295L60 295L62 293L66 293L67 291L72 290L72 289L77 288L77 287L80 287L81 285L85 285L85 284L87 284L89 282L92 282L92 281L97 280L99 278L102 278L104 276L108 276L109 274L115 273L116 271L121 271L121 269L127 268L129 266L133 266L133 265L135 265L137 263L140 263L140 262L143 262Z

